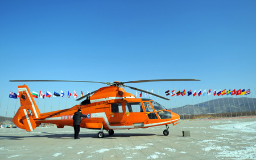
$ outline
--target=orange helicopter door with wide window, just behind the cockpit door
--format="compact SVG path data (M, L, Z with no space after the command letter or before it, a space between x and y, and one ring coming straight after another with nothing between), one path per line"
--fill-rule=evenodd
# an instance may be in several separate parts
M142 109L141 102L125 103L126 120L128 125L143 127L147 122L147 116Z

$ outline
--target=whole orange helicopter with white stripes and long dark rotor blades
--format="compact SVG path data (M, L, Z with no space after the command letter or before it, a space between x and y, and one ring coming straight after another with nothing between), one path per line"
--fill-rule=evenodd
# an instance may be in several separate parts
M126 83L145 83L153 81L200 81L197 79L157 79L157 80L137 80L127 82L97 82L97 81L71 81L71 80L10 80L11 82L24 81L65 81L65 82L85 82L85 83L101 83L109 85L94 90L78 98L81 101L79 105L75 105L70 109L51 111L48 113L40 113L34 98L27 85L19 85L18 92L20 95L20 107L16 112L13 122L26 131L34 131L34 129L42 123L56 124L57 128L64 126L73 126L73 115L81 109L82 114L86 114L87 118L81 119L81 128L98 129L98 138L104 137L104 130L109 135L114 135L114 129L134 129L148 128L154 126L165 125L163 131L164 136L169 135L168 124L175 126L178 124L180 116L171 110L167 110L158 102L147 98L137 98L134 94L125 92L124 87L138 90L153 96L170 100L158 94L148 92L146 90L127 86ZM177 122L177 123L176 123Z

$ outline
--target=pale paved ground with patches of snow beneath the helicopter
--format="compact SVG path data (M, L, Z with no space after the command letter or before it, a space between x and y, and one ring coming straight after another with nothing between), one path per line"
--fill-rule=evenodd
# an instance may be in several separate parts
M165 128L104 131L104 139L82 128L80 140L73 140L72 127L0 129L0 159L256 159L255 118L181 121L169 136Z

